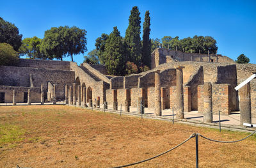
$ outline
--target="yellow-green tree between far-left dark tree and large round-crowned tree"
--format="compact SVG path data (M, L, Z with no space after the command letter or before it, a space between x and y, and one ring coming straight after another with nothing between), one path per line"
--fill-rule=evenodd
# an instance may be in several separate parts
M24 38L19 49L21 55L26 55L30 59L42 58L40 45L42 39L34 36L33 38Z

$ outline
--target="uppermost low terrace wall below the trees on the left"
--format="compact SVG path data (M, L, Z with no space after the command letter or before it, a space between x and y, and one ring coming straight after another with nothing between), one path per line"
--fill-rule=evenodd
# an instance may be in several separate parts
M52 70L70 70L69 61L52 61L43 59L19 59L20 67L47 68Z

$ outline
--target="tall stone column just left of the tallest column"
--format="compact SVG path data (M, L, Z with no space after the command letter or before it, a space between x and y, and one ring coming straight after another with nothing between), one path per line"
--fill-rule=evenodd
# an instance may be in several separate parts
M155 72L155 114L162 116L161 110L161 87L160 87L160 70Z

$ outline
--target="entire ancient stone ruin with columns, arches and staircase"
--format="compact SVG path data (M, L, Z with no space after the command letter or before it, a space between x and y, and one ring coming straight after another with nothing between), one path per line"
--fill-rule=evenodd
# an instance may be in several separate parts
M180 119L190 111L204 114L205 122L212 121L211 111L230 114L241 110L246 111L243 118L255 117L255 80L241 91L234 89L253 72L256 65L236 64L220 54L166 49L152 52L151 70L125 77L108 75L102 65L20 59L19 66L0 66L0 104L65 101L99 107L104 103L114 109L123 105L129 112L141 103L154 109L156 116L173 107Z

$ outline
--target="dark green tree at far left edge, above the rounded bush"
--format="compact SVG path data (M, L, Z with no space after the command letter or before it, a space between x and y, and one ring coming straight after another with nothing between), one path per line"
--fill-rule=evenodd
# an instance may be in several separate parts
M18 51L21 45L21 38L22 34L19 34L19 29L0 17L0 43L8 43L12 45L15 51Z

